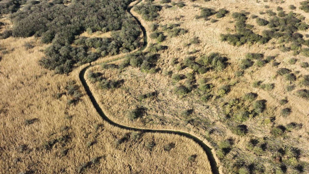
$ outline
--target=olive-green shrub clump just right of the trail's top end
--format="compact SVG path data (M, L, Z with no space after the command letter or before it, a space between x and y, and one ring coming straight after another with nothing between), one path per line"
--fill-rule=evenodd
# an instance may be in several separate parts
M142 15L142 18L146 21L153 21L159 17L159 11L162 7L151 3L142 3L141 5L135 6L134 11Z

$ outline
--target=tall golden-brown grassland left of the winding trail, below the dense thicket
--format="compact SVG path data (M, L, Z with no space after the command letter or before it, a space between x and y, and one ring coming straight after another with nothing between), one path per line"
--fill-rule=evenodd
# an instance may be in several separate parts
M38 39L9 37L0 46L0 173L211 173L190 139L104 122L79 68L67 76L38 64L47 46Z

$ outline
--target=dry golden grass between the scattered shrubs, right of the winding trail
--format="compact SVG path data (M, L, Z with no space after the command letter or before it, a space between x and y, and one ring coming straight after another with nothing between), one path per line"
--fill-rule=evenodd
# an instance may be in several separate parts
M158 3L159 1L155 1ZM286 125L290 122L303 124L302 128L299 130L292 130L286 133L286 137L278 137L274 139L274 142L281 143L282 146L294 146L302 151L301 161L308 162L308 132L309 124L307 122L307 116L309 115L309 102L303 98L299 98L295 95L298 89L308 89L308 87L300 85L301 77L303 75L309 74L308 68L301 68L300 63L303 61L308 61L307 57L302 55L292 55L290 52L281 52L278 48L278 43L273 39L265 45L245 44L243 46L235 47L227 44L226 42L220 41L219 35L221 33L234 33L235 23L230 23L233 21L231 17L232 12L237 12L241 10L246 10L251 14L258 15L259 17L269 19L267 14L260 15L260 11L266 11L264 7L268 5L268 9L272 9L276 12L276 7L280 6L284 11L289 12L289 5L294 4L297 9L294 10L296 13L300 13L306 17L304 20L307 24L309 23L309 14L304 13L298 9L299 2L302 0L297 0L293 2L286 1L281 3L280 1L272 2L256 2L256 1L184 1L186 6L183 8L171 7L164 8L160 11L160 19L156 22L159 24L169 24L169 23L179 23L181 28L188 29L188 33L180 35L178 37L167 37L166 41L163 41L162 45L167 45L168 49L161 51L160 59L158 60L157 67L161 68L161 71L156 74L145 74L140 72L138 68L128 67L125 71L118 72L117 70L101 69L99 66L91 68L94 72L102 72L104 77L108 79L124 79L124 84L120 89L114 90L99 90L95 84L88 84L91 90L94 91L95 98L100 101L99 105L107 113L108 117L117 123L125 124L128 126L142 127L142 128L163 128L163 129L177 129L192 133L198 137L210 136L214 141L218 142L226 138L233 138L235 142L235 149L233 153L230 153L228 158L232 158L232 154L236 152L238 154L243 154L244 159L254 153L248 151L246 146L251 138L259 137L263 138L265 136L272 137L270 135L270 129L273 124L269 122L269 118L272 116L276 117L275 125ZM210 21L205 21L203 19L195 19L195 15L200 14L200 9L198 7L211 7L216 10L220 8L226 8L231 11L226 17L218 19L218 22L211 23ZM176 19L182 15L180 19ZM248 15L248 17L250 17ZM216 18L212 16L211 18ZM256 21L248 18L248 24L254 25L253 31L255 33L261 34L266 26L258 26ZM149 26L151 22L145 22L146 26ZM150 31L150 30L147 30ZM300 31L299 33L305 34L306 32ZM148 33L147 33L148 34ZM193 37L199 37L201 43L198 45L192 44L191 46L184 46L184 43L188 43ZM150 41L155 42L155 41ZM180 51L176 51L176 48L180 48ZM199 50L196 54L191 54L193 56L199 57L202 54L208 54L210 52L219 52L224 56L228 57L228 62L230 65L223 72L210 71L203 75L196 75L196 79L206 78L207 83L212 83L214 85L214 91L216 92L221 85L234 84L231 87L231 91L222 99L211 99L210 102L202 102L195 92L189 94L185 98L180 98L173 92L173 84L171 83L170 76L163 76L161 74L163 71L172 71L173 73L185 74L190 72L189 68L183 70L177 70L176 66L171 66L169 60L173 57L178 58L182 62L186 56L188 56L187 51L192 51L193 49ZM240 59L244 58L244 55L248 52L251 53L263 53L265 56L273 56L278 54L276 57L277 62L281 62L278 67L273 67L271 63L266 64L264 67L253 66L248 70L245 70L244 76L236 78L234 75L235 71L238 71L238 65ZM290 58L297 58L298 61L294 65L290 65L288 60ZM113 63L120 63L120 61L115 61ZM296 88L287 92L285 87L289 85L290 82L284 80L281 76L276 76L276 71L278 68L286 67L292 70L296 74L298 80L292 82ZM87 75L87 72L86 72ZM252 83L254 81L261 80L264 83L274 83L275 88L271 91L265 91L260 88L253 88ZM184 83L181 80L178 83ZM158 96L156 98L150 98L143 101L138 101L138 94L145 94L147 92L157 91ZM224 117L224 111L222 106L225 102L232 98L242 98L244 93L254 92L258 94L257 99L265 99L266 110L258 118L251 118L243 122L249 129L248 136L240 137L231 132L229 126L221 122ZM287 98L289 101L286 105L281 106L279 100ZM143 118L139 118L136 121L130 121L127 118L127 113L131 111L136 106L143 106L147 109L147 115ZM280 115L280 110L290 107L292 113L283 117ZM203 130L201 125L186 124L185 120L179 115L180 111L193 109L192 117L194 119L209 120L210 124L207 124L206 131ZM204 121L203 120L203 121ZM208 135L210 129L214 129L213 134ZM207 144L210 144L209 142ZM236 154L237 154L236 153ZM269 164L271 160L272 153L265 152L259 158L263 161L266 166L265 173L271 173L272 165ZM219 163L222 167L223 163ZM232 165L232 164L231 164ZM223 166L221 169L226 172L226 167ZM307 168L305 169L307 172ZM293 172L288 169L288 173Z

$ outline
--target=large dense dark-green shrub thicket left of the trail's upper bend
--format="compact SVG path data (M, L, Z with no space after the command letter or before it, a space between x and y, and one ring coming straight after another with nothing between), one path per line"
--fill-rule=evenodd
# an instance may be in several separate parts
M16 1L17 2L17 1ZM56 73L68 73L74 63L88 63L100 56L129 52L140 46L140 28L126 8L131 1L27 2L11 14L13 37L40 37L46 48L40 64ZM15 3L15 2L14 2ZM13 11L14 12L14 11ZM111 38L85 38L87 31L112 32ZM9 32L3 33L7 37ZM74 45L72 45L74 44ZM95 52L90 51L91 48Z

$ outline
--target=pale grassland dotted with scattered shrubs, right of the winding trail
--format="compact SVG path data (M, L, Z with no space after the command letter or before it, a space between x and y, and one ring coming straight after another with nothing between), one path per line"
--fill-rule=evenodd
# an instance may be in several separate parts
M95 73L96 80L91 76L88 84L108 117L128 126L177 129L204 137L216 149L223 173L307 173L309 102L299 90L309 89L308 57L303 52L308 46L294 49L294 43L282 46L284 42L276 38L239 46L220 40L220 34L237 32L234 12L249 12L247 27L262 36L269 26L260 26L256 18L271 21L270 10L278 14L293 11L309 24L309 14L299 9L303 1L183 1L184 7L176 1L160 2L153 2L163 5L157 20L145 21L148 31L157 23L150 37L155 32L166 36L158 40L158 34L152 40L168 47L154 51L159 54L157 72L147 73L142 63L136 67L131 61L131 66L123 68L122 60L88 72ZM204 7L225 8L229 13L205 20L197 17ZM174 36L171 26L187 32ZM307 30L297 33L307 40ZM197 64L190 64L192 59L211 57L211 52L226 57L222 69L210 67L201 73L202 69L194 69ZM254 58L248 53L263 55ZM243 68L244 59L252 64ZM120 85L96 82L99 78ZM183 93L179 86L186 88Z

